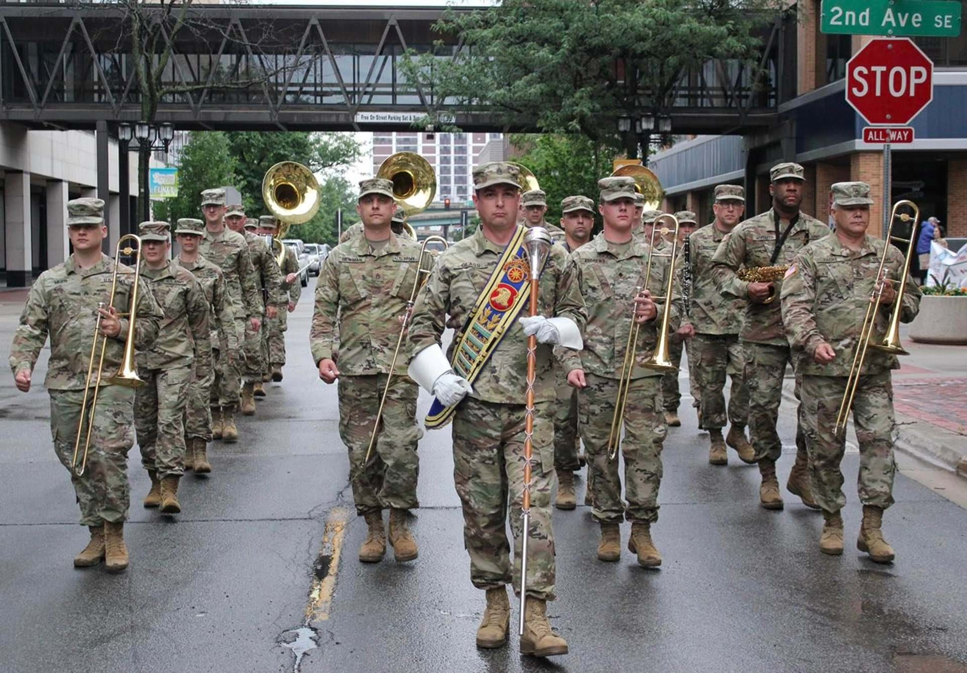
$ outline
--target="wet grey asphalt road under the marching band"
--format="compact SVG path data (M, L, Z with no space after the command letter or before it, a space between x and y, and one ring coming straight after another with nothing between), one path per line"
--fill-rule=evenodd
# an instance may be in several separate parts
M848 454L847 549L825 557L818 513L788 494L784 512L759 509L758 471L734 453L728 467L708 465L688 397L663 454L660 570L627 551L598 562L588 509L556 512L550 614L571 654L521 658L515 635L478 651L484 597L469 582L450 428L421 443L420 559L397 565L391 552L362 566L336 389L315 375L304 297L285 380L242 421L238 444L214 445L210 479L183 481L182 514L140 506L148 478L132 450L132 567L120 575L73 569L86 529L50 446L47 396L40 385L21 395L0 373L0 670L292 671L305 644L302 671L967 671L962 509L898 477L885 521L897 561L873 564L852 547L861 509ZM20 306L3 302L9 344ZM780 434L792 443L789 407ZM782 483L792 458L779 463Z

